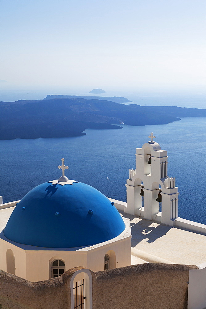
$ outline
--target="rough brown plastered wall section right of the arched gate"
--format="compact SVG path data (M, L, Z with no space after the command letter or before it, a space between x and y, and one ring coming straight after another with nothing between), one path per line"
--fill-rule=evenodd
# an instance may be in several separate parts
M96 272L93 309L187 309L189 269L146 263Z

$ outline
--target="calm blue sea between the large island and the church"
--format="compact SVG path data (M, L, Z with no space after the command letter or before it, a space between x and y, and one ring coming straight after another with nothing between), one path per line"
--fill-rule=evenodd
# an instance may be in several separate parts
M57 166L64 157L69 179L126 201L125 184L129 168L135 168L135 149L154 132L155 141L168 151L168 176L176 177L179 216L206 224L205 127L206 118L191 117L168 125L87 129L86 136L76 138L0 141L0 195L5 203L19 200L38 184L58 179Z

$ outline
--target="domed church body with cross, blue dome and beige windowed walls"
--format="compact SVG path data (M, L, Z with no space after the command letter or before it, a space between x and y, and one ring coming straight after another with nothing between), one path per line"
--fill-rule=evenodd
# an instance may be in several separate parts
M93 271L131 265L130 220L95 188L62 176L33 188L0 238L0 268L29 281L84 265Z

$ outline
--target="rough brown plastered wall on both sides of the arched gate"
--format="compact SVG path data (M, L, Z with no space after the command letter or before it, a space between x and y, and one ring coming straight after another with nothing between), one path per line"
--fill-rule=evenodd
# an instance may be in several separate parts
M73 268L61 277L38 282L0 271L0 308L70 309L70 281L80 269L85 268ZM91 271L93 309L186 309L189 269L198 268L146 263Z

